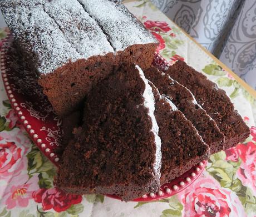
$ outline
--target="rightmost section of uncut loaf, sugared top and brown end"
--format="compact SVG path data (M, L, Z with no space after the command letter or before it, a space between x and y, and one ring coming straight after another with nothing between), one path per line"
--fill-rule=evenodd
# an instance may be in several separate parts
M77 1L109 37L120 62L150 67L158 42L124 4L116 0Z

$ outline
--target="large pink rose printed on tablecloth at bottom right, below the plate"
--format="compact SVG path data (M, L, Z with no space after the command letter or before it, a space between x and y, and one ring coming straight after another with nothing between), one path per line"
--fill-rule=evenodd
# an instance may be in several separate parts
M247 216L238 196L221 188L210 176L196 180L185 194L179 196L184 204L184 216Z

